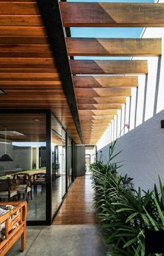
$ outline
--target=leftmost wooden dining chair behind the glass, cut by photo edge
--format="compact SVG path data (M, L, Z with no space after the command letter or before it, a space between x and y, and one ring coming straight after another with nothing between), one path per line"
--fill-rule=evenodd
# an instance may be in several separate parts
M10 179L0 179L0 199L11 201L17 196L17 190L12 190Z

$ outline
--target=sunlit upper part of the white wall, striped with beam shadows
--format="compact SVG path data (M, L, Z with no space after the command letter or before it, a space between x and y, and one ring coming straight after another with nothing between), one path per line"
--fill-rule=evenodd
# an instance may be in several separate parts
M136 102L136 88L131 89L131 112L129 122L129 102L130 98L126 98L126 123L129 123L130 130L139 126L144 121L147 121L152 116L164 109L164 28L147 28L142 33L142 38L162 38L162 56L161 57L133 57L132 59L147 60L148 63L148 75L138 75L138 98ZM122 105L122 116L120 111L117 114L117 135L120 135L120 120L124 121L124 105ZM113 140L113 133L116 134L116 130L110 131L110 140ZM108 128L107 128L108 129ZM116 129L116 127L115 127ZM125 129L125 133L128 130ZM106 138L106 132L97 142L97 149L101 149L102 146L108 144ZM124 133L122 132L121 135Z

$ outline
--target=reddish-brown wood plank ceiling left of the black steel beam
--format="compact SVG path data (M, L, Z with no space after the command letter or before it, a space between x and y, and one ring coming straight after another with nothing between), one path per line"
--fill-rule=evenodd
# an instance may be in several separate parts
M0 108L50 109L81 143L55 62L37 1L1 0Z

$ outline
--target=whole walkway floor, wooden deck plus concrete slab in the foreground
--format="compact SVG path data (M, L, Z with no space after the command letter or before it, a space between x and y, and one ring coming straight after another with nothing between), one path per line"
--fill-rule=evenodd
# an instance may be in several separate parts
M28 227L24 252L19 251L20 241L17 241L6 256L106 256L99 225L93 225L96 223L93 195L90 176L77 178L54 225Z

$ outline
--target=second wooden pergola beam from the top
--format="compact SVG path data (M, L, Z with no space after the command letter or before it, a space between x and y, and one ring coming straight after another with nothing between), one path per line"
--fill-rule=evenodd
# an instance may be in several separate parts
M69 56L161 56L161 38L66 38Z

